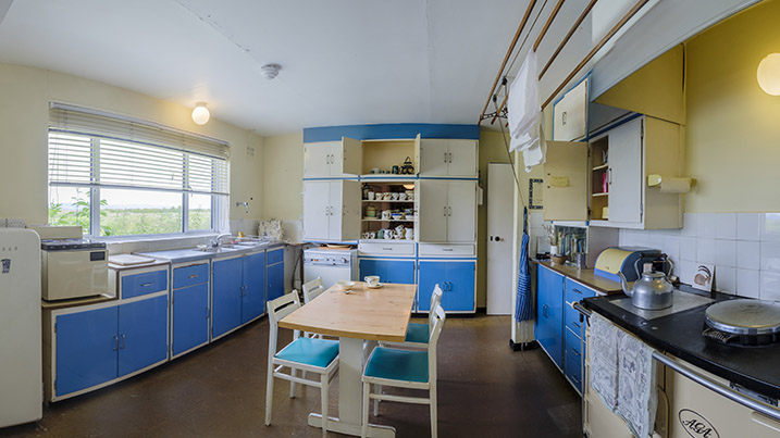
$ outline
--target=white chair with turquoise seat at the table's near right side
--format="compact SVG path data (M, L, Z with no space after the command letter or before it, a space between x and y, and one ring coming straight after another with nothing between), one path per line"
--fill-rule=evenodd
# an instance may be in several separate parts
M436 416L436 345L446 317L442 305L431 310L433 329L428 340L428 351L376 347L363 371L363 421L361 436L369 431L369 403L371 399L401 403L429 404L431 408L431 436L437 436ZM371 385L428 390L429 397L394 396L371 392Z

